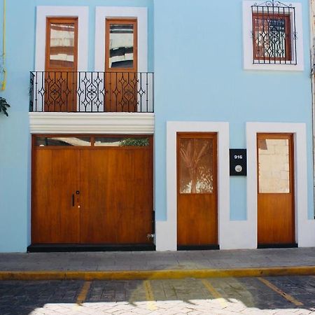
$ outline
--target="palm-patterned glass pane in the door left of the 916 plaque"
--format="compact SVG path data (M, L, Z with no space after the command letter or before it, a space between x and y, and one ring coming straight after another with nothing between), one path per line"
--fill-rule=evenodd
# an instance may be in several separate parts
M179 193L213 193L212 139L181 139L179 146Z

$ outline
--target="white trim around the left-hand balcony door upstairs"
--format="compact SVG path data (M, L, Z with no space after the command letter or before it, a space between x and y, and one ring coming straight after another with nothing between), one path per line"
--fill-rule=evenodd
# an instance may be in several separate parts
M87 6L37 6L35 71L45 71L46 18L78 17L78 71L87 71L89 8Z

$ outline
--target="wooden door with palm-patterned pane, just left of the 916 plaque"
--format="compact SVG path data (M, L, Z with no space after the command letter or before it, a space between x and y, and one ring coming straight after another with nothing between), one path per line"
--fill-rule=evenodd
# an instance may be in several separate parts
M218 244L216 134L177 134L177 244Z

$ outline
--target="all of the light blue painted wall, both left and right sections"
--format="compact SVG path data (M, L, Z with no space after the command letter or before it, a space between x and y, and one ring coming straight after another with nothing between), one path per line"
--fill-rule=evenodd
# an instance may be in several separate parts
M241 0L155 0L154 10L153 0L7 1L8 83L0 96L6 97L12 108L9 118L0 116L0 252L25 251L30 241L28 88L29 71L34 69L35 8L43 5L90 7L88 70L94 65L94 7L148 6L148 70L155 70L158 220L166 219L167 120L228 121L231 148L246 147L246 121L307 123L311 218L309 14L308 1L300 2L305 70L291 73L242 69ZM264 97L259 96L259 87L268 90ZM230 179L230 200L230 218L246 219L246 178Z

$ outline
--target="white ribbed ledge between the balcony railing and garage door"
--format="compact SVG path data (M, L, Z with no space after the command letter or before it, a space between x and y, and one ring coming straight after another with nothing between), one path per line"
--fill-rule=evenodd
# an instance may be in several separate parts
M29 113L31 134L153 134L153 113Z

